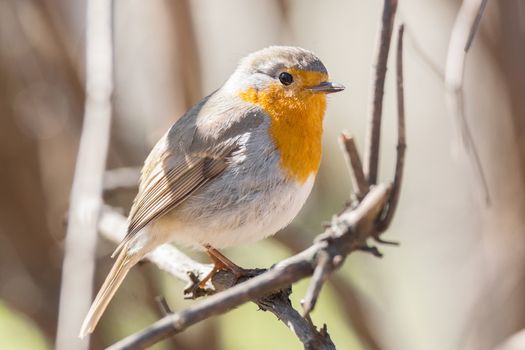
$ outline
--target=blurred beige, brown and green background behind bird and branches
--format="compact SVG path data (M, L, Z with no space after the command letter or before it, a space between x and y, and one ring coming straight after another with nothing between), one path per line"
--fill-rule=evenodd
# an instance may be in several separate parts
M400 0L406 24L407 158L382 259L352 254L321 294L314 322L338 349L523 349L525 326L525 2L489 2L467 56L465 109L491 195L447 109L444 69L461 1ZM82 128L85 1L0 0L0 348L51 349L56 334L65 217ZM274 44L310 49L334 81L314 191L275 238L226 250L268 267L306 247L350 193L341 130L363 149L382 1L115 0L114 94L108 169L137 167L155 141L246 54ZM394 55L391 55L393 58ZM394 61L385 87L380 176L393 175ZM106 191L127 213L133 188ZM114 244L100 239L96 288ZM205 256L196 256L207 262ZM294 287L295 306L307 281ZM152 264L132 270L91 342L100 349L174 310L182 283ZM504 344L504 345L501 345ZM156 349L301 349L269 313L246 304Z

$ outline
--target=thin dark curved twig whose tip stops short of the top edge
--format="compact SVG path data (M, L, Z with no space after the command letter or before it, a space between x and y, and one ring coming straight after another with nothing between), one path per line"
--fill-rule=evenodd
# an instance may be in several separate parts
M388 205L384 217L379 224L380 232L384 232L392 222L392 218L397 209L399 194L401 193L401 184L403 182L403 172L405 168L405 151L406 151L406 130L405 130L405 92L403 86L403 34L405 26L401 24L397 34L397 52L396 52L396 81L397 81L397 157L396 168L394 173L394 182L392 192L388 200ZM387 241L380 240L381 243ZM392 242L389 242L392 243Z

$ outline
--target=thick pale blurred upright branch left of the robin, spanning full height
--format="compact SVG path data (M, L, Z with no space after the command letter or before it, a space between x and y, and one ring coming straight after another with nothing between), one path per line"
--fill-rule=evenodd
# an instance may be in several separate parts
M56 348L87 349L76 336L91 303L97 221L111 125L111 1L86 9L86 102L66 233Z

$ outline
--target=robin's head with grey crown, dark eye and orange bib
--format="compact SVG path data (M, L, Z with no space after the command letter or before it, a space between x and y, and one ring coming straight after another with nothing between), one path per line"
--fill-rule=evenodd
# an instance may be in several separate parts
M270 119L270 135L286 174L299 182L317 172L326 94L344 86L312 52L272 46L243 58L224 89L260 107Z

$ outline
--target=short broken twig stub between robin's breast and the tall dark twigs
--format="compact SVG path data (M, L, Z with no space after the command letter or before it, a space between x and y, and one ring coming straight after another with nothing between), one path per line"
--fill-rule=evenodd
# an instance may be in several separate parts
M352 181L352 189L354 195L358 200L368 192L368 182L366 181L365 174L363 172L363 165L361 164L361 157L357 151L355 140L352 136L347 133L341 133L341 147L343 148L343 154L346 157L346 164L350 172L350 179Z

